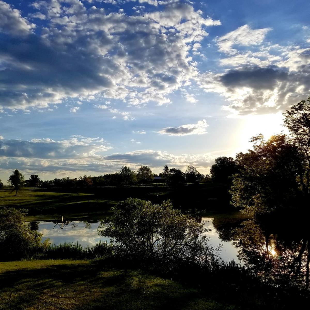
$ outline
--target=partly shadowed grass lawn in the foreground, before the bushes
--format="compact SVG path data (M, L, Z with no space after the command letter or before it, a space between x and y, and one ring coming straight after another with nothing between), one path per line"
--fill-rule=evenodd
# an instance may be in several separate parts
M159 277L100 260L0 263L0 309L235 309Z

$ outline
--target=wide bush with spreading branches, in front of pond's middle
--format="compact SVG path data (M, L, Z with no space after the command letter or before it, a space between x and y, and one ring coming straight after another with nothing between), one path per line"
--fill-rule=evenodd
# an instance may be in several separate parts
M203 235L203 223L175 210L170 200L156 205L130 198L112 210L98 233L112 238L116 257L125 264L169 273L184 265L200 268L219 261Z

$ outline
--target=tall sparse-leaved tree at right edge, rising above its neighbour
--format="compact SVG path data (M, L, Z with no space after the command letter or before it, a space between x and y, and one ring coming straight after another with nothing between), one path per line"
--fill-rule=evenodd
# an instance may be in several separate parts
M306 157L304 175L300 175L303 192L310 194L310 97L298 104L293 104L290 110L283 113L284 125L289 129L293 143L300 148Z

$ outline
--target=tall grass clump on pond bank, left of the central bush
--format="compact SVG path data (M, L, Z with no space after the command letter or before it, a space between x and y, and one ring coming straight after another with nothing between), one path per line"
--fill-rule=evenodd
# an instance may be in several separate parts
M111 258L113 244L107 241L99 241L94 246L82 246L80 243L65 242L59 245L51 245L45 252L47 259L98 259Z

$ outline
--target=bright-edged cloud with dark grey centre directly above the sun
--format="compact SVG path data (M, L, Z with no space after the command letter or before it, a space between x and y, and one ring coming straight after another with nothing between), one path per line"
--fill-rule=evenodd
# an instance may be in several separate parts
M223 108L238 114L277 113L303 100L310 92L310 48L281 46L265 41L270 28L244 25L216 38L224 57L223 73L206 72L199 77L206 92L223 95Z

